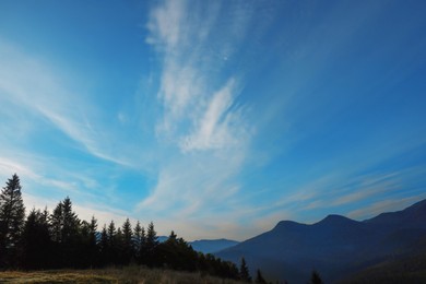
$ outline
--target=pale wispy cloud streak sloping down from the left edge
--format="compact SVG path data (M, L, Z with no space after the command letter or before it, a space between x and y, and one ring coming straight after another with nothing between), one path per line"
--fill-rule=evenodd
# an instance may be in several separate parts
M0 99L15 110L20 109L21 121L9 126L16 128L17 123L27 123L29 115L52 123L70 139L79 143L84 151L96 157L118 164L123 159L114 155L105 129L95 126L92 116L95 109L82 97L84 94L73 93L67 87L69 82L58 70L34 56L21 51L17 46L2 40L0 44L2 64L0 66ZM3 105L5 106L5 105ZM8 110L1 110L4 116ZM42 121L43 122L43 121Z

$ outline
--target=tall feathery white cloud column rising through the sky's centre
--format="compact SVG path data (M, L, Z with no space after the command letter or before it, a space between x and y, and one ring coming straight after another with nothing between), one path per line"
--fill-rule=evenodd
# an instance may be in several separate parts
M239 190L238 174L252 135L247 109L238 102L244 79L218 71L239 48L250 13L241 12L218 32L220 11L220 2L163 1L150 13L146 43L162 63L156 99L163 114L156 134L171 154L140 210L175 208L177 215L202 215Z

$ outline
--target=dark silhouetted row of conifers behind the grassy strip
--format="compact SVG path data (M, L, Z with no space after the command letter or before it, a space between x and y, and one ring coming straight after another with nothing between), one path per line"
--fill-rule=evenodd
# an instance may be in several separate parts
M129 218L121 226L114 221L98 229L97 220L82 221L69 197L50 213L33 209L25 216L16 174L0 194L0 270L86 269L141 264L182 271L200 271L220 277L251 282L242 259L239 268L213 255L194 251L171 232L159 242L154 224L146 229ZM264 280L258 271L257 282ZM265 282L264 282L265 283Z

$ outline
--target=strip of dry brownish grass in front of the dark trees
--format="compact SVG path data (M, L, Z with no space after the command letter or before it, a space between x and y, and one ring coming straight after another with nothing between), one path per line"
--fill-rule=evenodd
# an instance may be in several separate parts
M141 284L237 284L200 273L128 267L103 270L5 271L0 283L141 283Z

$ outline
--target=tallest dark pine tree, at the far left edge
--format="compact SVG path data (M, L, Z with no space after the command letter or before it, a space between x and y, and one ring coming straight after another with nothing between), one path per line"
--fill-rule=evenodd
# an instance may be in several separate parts
M15 265L19 241L25 223L25 208L16 174L10 178L0 194L0 267Z

